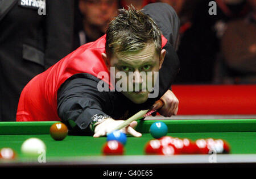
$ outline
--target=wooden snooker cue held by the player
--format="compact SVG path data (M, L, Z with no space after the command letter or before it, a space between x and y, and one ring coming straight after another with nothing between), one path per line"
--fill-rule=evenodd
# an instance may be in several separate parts
M162 99L159 99L158 101L156 101L156 105L158 105L158 109L163 107L164 103L163 103ZM152 109L152 107L151 107L151 109ZM121 130L121 128L129 126L129 124L131 122L133 122L134 120L138 120L138 119L141 119L141 118L147 116L146 114L148 112L150 112L151 109L139 111L138 113L131 116L129 119L126 119L123 123L119 124L119 126L115 127L112 131L108 132L108 134L115 131L115 130ZM156 110L154 110L154 111L156 111Z

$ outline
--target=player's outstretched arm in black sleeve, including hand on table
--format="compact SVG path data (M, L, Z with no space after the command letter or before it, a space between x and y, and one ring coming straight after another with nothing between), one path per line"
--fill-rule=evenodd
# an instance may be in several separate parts
M57 103L60 118L65 122L75 122L77 130L85 130L92 122L95 115L105 115L105 119L93 131L94 137L106 135L117 127L123 120L114 120L104 111L113 111L113 99L107 91L97 90L98 78L90 74L76 74L69 78L58 91ZM141 136L141 133L133 128L137 122L123 128L122 132L133 136Z

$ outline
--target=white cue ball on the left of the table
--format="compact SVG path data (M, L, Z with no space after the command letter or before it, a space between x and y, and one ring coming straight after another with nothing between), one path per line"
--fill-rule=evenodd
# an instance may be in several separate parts
M30 138L23 142L21 151L23 155L39 156L42 152L46 152L46 144L38 138Z

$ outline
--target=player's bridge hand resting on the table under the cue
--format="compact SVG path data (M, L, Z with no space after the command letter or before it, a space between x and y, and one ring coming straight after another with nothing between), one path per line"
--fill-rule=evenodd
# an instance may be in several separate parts
M93 137L98 138L100 136L105 136L109 131L112 131L115 127L119 126L119 124L123 123L123 121L124 120L114 120L111 118L104 120L104 122L95 127ZM135 137L141 137L142 134L134 130L134 127L136 127L137 124L137 121L133 121L129 126L122 128L121 132Z

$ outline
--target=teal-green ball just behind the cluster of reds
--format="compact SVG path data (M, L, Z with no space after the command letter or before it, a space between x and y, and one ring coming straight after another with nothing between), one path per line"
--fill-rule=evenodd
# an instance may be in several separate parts
M150 134L153 138L159 139L166 136L168 132L168 127L164 122L154 122L150 126Z

